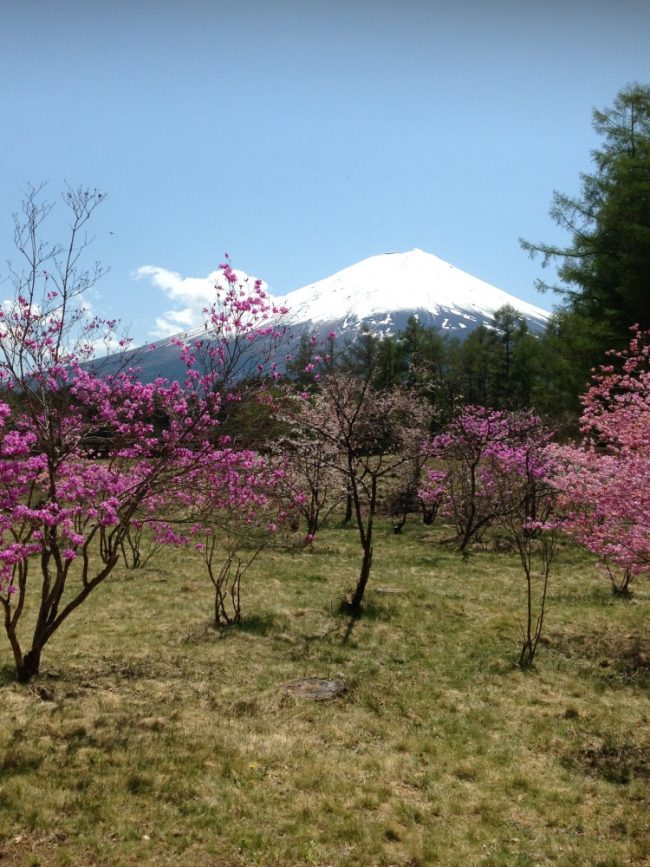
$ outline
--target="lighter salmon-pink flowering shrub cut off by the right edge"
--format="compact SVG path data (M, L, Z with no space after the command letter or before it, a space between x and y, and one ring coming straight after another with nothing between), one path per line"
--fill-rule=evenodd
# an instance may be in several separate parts
M564 527L592 551L615 593L650 572L650 332L609 353L582 398L582 443L557 449Z

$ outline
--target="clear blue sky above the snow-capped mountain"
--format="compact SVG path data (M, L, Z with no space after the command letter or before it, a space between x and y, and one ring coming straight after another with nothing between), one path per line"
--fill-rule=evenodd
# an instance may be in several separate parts
M647 0L0 0L0 274L28 183L68 182L108 193L92 305L136 342L225 251L280 294L420 247L549 308L518 238L564 239L649 34Z

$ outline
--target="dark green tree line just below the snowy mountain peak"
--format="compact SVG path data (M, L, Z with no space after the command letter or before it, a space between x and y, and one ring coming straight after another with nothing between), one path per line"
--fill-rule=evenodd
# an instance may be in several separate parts
M340 371L369 378L379 390L413 389L436 407L438 423L449 420L463 404L532 408L555 427L575 433L578 396L589 374L584 381L577 371L567 375L564 341L556 317L536 336L508 305L495 312L490 326L479 325L464 339L424 326L416 317L395 335L364 330L338 350L333 363ZM314 347L305 337L288 365L288 376L313 387L313 357Z

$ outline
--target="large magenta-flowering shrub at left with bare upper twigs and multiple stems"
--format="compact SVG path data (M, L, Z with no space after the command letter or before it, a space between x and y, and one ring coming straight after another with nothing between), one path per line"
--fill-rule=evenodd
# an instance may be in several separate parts
M68 192L71 237L59 247L40 240L49 208L37 194L23 222L16 218L28 265L11 272L15 298L0 310L0 605L21 681L39 672L47 642L110 575L135 521L166 514L197 475L208 479L212 504L254 501L255 469L244 473L240 461L235 471L219 457L229 359L220 338L276 328L261 287L235 285L226 265L229 289L208 311L208 333L215 321L221 329L206 349L209 364L197 365L202 347L183 345L183 382L145 384L134 370L102 378L85 362L100 338L113 345L116 323L88 317L81 299L98 272L82 270L80 257L83 227L103 195ZM171 529L161 532L172 540ZM28 636L21 626L30 598Z

